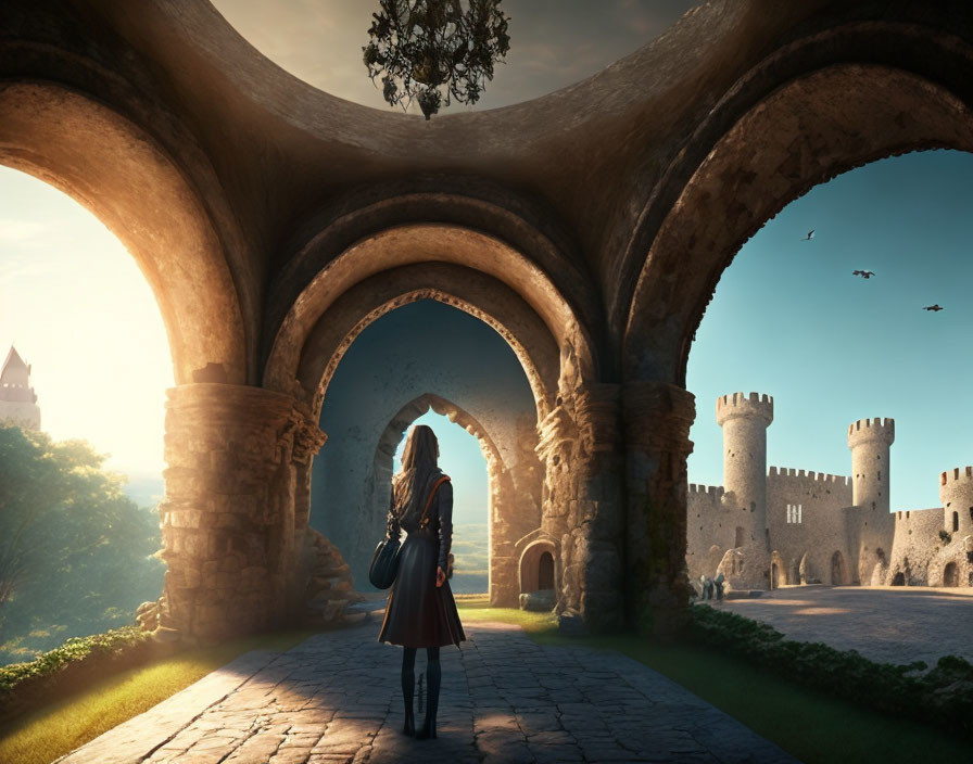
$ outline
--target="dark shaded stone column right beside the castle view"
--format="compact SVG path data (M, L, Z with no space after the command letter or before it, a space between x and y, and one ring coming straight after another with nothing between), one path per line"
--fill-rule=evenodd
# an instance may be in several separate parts
M688 614L686 459L692 393L665 382L622 390L627 448L626 600L640 633L672 636Z

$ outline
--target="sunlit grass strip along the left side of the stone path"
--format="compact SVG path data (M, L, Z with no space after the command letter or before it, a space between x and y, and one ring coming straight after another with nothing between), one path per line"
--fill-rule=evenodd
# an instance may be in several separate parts
M193 648L130 668L0 728L0 762L49 764L249 650L287 650L313 632L285 632Z

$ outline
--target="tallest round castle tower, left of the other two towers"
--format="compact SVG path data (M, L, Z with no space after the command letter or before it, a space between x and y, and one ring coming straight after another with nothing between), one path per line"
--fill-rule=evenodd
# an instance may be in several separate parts
M770 552L767 540L767 428L773 398L743 393L717 398L717 423L723 428L723 487L738 507L735 524L744 546Z

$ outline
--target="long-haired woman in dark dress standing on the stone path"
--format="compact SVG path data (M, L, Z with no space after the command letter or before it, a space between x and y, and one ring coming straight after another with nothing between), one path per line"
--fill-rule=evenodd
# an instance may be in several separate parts
M439 649L466 639L453 591L446 581L447 556L453 542L453 487L437 466L439 443L431 428L415 425L405 442L402 470L392 478L388 537L400 527L408 537L399 551L399 573L389 593L380 642L402 645L402 697L405 735L435 737L435 713L442 672ZM416 651L426 648L429 703L426 722L417 733L413 715Z

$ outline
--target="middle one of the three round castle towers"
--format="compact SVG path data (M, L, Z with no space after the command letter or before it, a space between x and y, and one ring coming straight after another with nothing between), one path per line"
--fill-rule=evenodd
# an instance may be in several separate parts
M889 447L895 442L895 420L859 419L848 425L851 449L851 504L859 508L858 583L883 584L888 553L895 536L895 517L889 510ZM852 539L854 542L854 539Z

